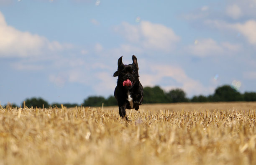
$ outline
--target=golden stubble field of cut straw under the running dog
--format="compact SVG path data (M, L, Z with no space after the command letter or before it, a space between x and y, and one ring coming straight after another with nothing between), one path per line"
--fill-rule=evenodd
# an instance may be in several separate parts
M256 102L0 107L0 164L255 165Z

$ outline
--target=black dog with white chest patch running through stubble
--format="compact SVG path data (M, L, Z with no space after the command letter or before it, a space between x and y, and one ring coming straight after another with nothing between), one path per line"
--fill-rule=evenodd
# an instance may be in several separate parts
M118 70L113 77L118 76L117 86L115 87L115 99L118 102L120 117L125 118L125 109L135 109L138 111L143 102L143 87L138 76L138 62L133 55L133 63L124 65L121 56L118 59Z

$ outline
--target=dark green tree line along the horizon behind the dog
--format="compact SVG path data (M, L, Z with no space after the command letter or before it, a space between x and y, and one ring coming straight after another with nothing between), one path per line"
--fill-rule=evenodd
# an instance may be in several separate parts
M214 94L209 96L193 96L191 99L187 98L186 93L182 89L172 89L165 92L159 86L143 88L144 92L144 104L151 103L177 103L177 102L254 102L256 101L256 92L245 92L241 94L236 89L233 89L229 85L219 86L215 89ZM27 107L61 107L60 103L49 104L42 98L32 97L31 99L24 100ZM84 99L82 105L84 107L100 107L104 103L104 106L115 106L117 102L114 96L105 98L103 96L89 96ZM20 106L15 104L8 104L5 107L23 107L23 102ZM81 104L64 103L65 107L81 106Z

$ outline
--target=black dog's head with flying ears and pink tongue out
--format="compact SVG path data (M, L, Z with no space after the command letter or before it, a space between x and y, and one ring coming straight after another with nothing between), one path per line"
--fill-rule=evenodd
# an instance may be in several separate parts
M136 56L133 55L133 63L129 65L124 65L121 56L118 59L118 70L113 74L113 77L118 76L118 81L123 84L123 86L132 87L133 84L138 81L138 62Z

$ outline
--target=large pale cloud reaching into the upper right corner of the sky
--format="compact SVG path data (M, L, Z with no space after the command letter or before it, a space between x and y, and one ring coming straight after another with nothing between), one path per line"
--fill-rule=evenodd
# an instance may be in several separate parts
M204 25L208 25L210 28L224 30L227 33L239 33L246 38L248 43L256 45L256 0L227 1L224 7L224 10L216 10L215 8L209 10L205 6L185 15L184 18L195 20L194 22L197 24L202 21ZM234 20L243 19L243 22L229 23L230 19L226 21L225 15Z

